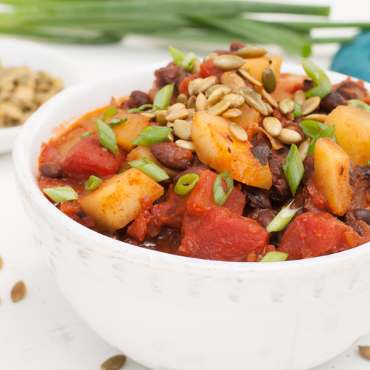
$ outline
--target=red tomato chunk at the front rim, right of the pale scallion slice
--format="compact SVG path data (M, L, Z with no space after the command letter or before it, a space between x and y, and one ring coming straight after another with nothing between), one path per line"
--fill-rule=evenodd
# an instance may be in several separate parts
M341 252L369 241L353 228L326 212L307 212L295 218L285 231L279 252L288 253L288 260L318 257Z

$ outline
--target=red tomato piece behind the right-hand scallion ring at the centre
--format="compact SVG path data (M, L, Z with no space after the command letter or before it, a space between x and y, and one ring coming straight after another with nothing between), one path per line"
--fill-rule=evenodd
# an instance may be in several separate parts
M213 199L213 183L216 179L217 175L212 171L207 170L201 174L187 202L187 209L190 214L204 212L207 208L215 205ZM226 193L225 181L221 181L221 184L223 186L223 191ZM223 206L242 215L245 206L244 194L234 186L233 191L231 191L230 196Z

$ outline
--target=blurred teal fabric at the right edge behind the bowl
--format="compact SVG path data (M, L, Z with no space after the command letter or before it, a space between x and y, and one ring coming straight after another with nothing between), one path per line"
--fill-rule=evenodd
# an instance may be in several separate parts
M334 56L331 69L370 82L370 31L343 45Z

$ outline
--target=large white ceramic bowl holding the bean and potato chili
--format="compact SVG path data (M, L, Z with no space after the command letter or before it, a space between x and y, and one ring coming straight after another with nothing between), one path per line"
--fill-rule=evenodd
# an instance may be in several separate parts
M60 289L97 334L151 369L306 370L332 359L370 330L370 243L281 263L184 258L90 231L38 190L38 155L53 128L148 90L154 69L64 90L17 139L18 191Z

